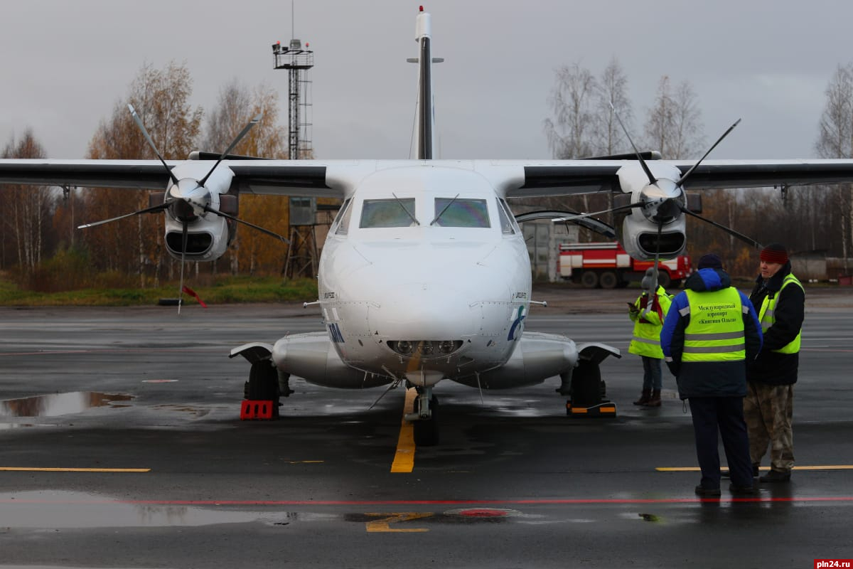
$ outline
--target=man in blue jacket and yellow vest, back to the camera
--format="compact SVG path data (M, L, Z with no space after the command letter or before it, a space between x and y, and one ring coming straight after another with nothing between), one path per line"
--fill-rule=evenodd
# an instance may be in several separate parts
M731 286L717 255L704 255L698 266L684 283L684 292L673 299L660 333L664 361L693 415L702 471L696 494L720 496L717 433L732 479L728 490L755 494L743 400L746 363L761 351L761 325L746 294Z

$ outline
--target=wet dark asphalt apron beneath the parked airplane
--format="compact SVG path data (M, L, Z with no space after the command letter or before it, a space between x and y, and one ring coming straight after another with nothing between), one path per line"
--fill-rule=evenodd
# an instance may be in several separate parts
M528 329L626 350L630 321L613 307L635 292L548 295ZM321 329L316 309L0 309L0 566L849 559L853 295L809 299L792 482L749 499L724 485L705 501L693 495L699 473L662 470L696 467L675 380L664 371L661 408L632 405L641 364L627 352L602 365L610 419L567 416L556 378L482 395L443 382L441 444L392 473L402 388L368 410L383 388L293 380L281 420L240 421L248 364L230 348Z

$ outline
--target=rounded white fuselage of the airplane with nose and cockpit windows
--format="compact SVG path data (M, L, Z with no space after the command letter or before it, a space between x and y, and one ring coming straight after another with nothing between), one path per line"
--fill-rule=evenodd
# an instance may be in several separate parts
M377 171L345 200L320 259L323 320L339 357L430 386L505 363L531 271L504 202L473 171Z

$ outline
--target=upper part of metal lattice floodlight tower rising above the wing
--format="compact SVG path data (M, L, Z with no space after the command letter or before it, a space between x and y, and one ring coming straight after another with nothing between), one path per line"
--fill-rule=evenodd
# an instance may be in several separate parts
M299 160L310 155L311 141L311 97L309 70L314 67L314 52L305 49L302 41L291 39L290 44L285 46L281 42L272 44L272 55L275 69L287 69L289 72L287 91L287 119L288 125L288 157L290 160Z

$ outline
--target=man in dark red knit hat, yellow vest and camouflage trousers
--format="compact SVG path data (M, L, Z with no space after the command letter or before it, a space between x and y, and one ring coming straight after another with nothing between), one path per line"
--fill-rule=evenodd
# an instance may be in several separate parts
M758 311L764 345L746 370L744 417L754 475L770 446L770 472L762 482L787 482L794 465L792 415L805 311L803 285L791 272L784 245L771 243L760 255L750 300Z

